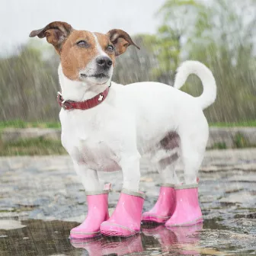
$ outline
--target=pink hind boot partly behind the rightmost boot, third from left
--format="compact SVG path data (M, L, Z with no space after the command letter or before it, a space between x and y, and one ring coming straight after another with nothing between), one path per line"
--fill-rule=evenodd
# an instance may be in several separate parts
M171 218L175 208L175 190L173 184L162 184L155 206L142 214L143 222L165 223Z

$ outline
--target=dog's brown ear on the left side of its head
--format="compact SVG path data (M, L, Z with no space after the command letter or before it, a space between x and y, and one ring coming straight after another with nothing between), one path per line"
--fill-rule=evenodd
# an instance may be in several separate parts
M62 43L69 37L72 30L73 28L66 22L54 21L40 30L31 31L30 37L46 37L47 42L53 44L57 53L59 53Z

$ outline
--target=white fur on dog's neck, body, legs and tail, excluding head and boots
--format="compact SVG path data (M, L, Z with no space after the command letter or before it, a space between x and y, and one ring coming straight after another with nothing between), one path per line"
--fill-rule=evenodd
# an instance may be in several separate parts
M203 94L194 98L179 91L194 72L203 82ZM59 82L65 100L85 101L104 91L103 85L74 82L59 67ZM139 159L150 155L158 162L165 183L179 184L174 153L184 163L184 182L194 184L208 139L203 108L216 98L212 73L200 62L184 62L173 88L158 82L119 85L112 82L107 98L89 110L61 110L62 145L81 177L85 190L102 189L98 171L123 171L123 187L139 190ZM162 149L159 142L170 132L178 133L178 149Z

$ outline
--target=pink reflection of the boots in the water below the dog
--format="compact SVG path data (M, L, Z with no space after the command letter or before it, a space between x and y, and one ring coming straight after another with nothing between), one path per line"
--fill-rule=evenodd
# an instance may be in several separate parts
M75 248L84 248L88 255L132 255L146 251L152 254L172 253L182 255L200 255L200 230L203 224L191 227L166 229L165 226L142 226L142 233L130 238L72 239Z

